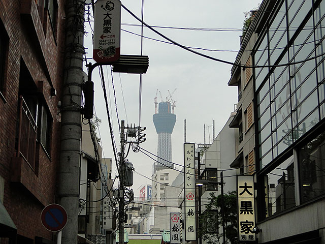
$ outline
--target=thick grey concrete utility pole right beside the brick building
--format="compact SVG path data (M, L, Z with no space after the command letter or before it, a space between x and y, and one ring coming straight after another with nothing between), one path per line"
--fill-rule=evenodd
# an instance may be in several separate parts
M82 64L85 1L66 1L66 43L61 108L58 203L68 214L63 244L77 244L81 149Z

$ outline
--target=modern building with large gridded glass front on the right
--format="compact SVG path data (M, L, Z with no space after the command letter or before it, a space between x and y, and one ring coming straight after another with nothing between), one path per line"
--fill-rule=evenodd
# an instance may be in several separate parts
M233 68L230 84L253 88L259 243L325 241L324 13L325 1L263 1Z

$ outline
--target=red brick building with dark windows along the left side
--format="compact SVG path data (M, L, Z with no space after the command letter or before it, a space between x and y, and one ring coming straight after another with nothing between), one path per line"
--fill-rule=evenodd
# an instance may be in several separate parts
M64 0L0 0L0 243L53 243Z

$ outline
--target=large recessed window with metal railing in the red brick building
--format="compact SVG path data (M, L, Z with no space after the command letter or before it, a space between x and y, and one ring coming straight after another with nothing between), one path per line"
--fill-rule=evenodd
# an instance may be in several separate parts
M28 68L21 60L19 72L19 107L17 113L17 157L24 160L37 172L39 145L50 157L52 116L45 99L37 95L37 86Z

